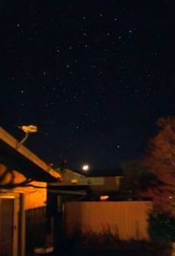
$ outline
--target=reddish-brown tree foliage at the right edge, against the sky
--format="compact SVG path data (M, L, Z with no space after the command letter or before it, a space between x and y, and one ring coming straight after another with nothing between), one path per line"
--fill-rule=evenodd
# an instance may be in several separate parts
M146 165L157 182L146 191L158 210L175 216L175 118L158 119L160 131L150 142ZM145 195L145 194L144 194Z

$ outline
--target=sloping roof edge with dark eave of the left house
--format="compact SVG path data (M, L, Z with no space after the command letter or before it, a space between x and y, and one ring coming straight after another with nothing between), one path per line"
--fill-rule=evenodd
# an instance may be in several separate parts
M0 127L0 161L9 167L25 174L34 181L52 182L60 179L60 174L39 159L19 141Z

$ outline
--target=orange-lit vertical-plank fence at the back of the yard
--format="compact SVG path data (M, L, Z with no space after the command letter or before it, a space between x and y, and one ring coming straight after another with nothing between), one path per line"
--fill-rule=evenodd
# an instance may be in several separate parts
M110 231L120 239L148 239L151 202L67 202L66 232Z

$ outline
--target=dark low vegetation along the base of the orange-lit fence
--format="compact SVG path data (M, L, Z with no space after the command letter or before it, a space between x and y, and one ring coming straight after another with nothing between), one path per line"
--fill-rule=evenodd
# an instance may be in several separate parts
M65 245L61 245L61 248L66 252L65 255L101 256L168 256L171 250L167 244L152 243L145 240L120 240L117 235L113 235L109 231L102 233L77 231L70 238L66 238ZM68 252L68 248L71 248L70 252Z

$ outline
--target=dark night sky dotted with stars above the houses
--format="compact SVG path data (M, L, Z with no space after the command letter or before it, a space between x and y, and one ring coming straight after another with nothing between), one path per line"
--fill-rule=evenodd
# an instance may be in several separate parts
M1 1L0 125L58 167L115 168L174 115L169 1Z

